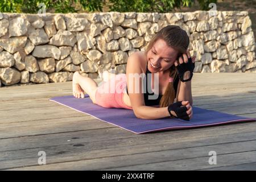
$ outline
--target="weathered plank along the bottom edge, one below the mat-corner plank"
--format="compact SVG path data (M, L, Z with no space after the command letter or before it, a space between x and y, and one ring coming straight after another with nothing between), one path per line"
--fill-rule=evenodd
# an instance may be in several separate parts
M234 136L233 136L234 137ZM254 134L255 137L255 134ZM34 158L34 165L20 168L22 170L182 170L213 167L209 165L209 151L217 152L217 165L214 167L230 166L241 163L256 162L256 140L233 143L218 143L204 146L176 148L172 150L150 151L133 155L117 155L112 157L77 160L75 162L56 163L48 156L48 164L38 166ZM65 153L62 154L65 158ZM86 153L87 155L87 153ZM77 156L76 156L77 157ZM75 158L76 158L75 157ZM85 157L86 158L86 157ZM236 160L234 160L236 159ZM28 159L30 160L30 159ZM53 162L54 163L51 163ZM2 166L2 165L1 165ZM3 167L7 167L3 164Z

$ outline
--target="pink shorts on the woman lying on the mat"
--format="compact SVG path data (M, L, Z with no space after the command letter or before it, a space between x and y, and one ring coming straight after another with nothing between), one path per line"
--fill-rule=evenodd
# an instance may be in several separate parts
M96 104L106 108L132 109L123 102L126 85L125 73L119 73L109 81L101 82L96 90Z

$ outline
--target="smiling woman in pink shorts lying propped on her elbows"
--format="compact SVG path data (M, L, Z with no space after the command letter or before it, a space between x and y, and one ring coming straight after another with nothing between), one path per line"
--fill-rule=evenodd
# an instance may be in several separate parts
M189 121L193 115L191 78L195 57L191 58L189 55L188 44L188 35L179 26L164 27L156 33L146 51L129 56L126 75L114 75L105 71L102 74L105 83L97 86L91 78L76 72L73 76L73 95L83 98L85 91L94 104L133 109L137 118L158 119L171 116ZM134 75L146 77L134 81ZM144 78L146 86L150 85L149 91L159 92L148 92L146 89L145 93ZM108 88L112 88L114 92L102 92ZM154 96L154 99L150 99L150 96ZM156 107L157 105L160 107Z

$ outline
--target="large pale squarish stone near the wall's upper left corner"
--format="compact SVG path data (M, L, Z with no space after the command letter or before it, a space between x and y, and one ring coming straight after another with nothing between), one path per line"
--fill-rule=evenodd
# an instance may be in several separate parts
M27 19L22 17L10 20L9 37L25 35L29 24Z

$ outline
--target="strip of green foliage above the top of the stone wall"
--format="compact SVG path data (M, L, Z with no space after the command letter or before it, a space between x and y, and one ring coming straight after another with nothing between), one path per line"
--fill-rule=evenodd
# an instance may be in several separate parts
M209 3L217 0L197 0L201 10L209 10ZM76 13L102 11L108 7L109 11L119 12L159 12L167 13L181 6L191 7L195 0L0 0L0 12L10 13L38 13L44 3L46 12Z

